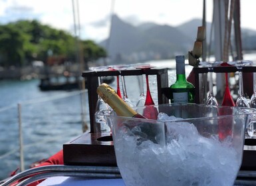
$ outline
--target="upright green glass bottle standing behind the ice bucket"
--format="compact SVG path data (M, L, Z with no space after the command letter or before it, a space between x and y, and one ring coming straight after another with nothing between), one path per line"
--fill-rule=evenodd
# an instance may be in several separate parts
M195 87L186 80L184 55L176 56L176 82L170 86L170 93L172 103L195 102Z

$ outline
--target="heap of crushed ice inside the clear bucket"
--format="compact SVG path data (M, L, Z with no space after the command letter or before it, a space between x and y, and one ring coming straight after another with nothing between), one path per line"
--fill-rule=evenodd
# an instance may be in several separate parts
M174 122L180 119L158 115L168 121L166 146L146 140L138 126L116 134L114 147L126 185L233 185L240 161L231 138L205 138L193 124Z

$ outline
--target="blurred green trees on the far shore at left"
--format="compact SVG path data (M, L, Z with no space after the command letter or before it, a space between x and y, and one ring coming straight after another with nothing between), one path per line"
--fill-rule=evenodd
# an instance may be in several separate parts
M46 62L49 54L75 61L76 45L76 38L70 33L36 20L0 25L0 66L25 66L33 60ZM80 47L84 62L106 56L106 50L94 41L81 41Z

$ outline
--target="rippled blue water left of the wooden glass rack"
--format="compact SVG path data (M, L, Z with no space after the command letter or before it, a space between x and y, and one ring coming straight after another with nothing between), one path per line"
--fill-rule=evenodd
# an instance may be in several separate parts
M20 166L18 103L21 104L25 169L82 134L80 94L41 92L38 84L39 80L0 81L0 179ZM88 117L85 120L88 122Z

